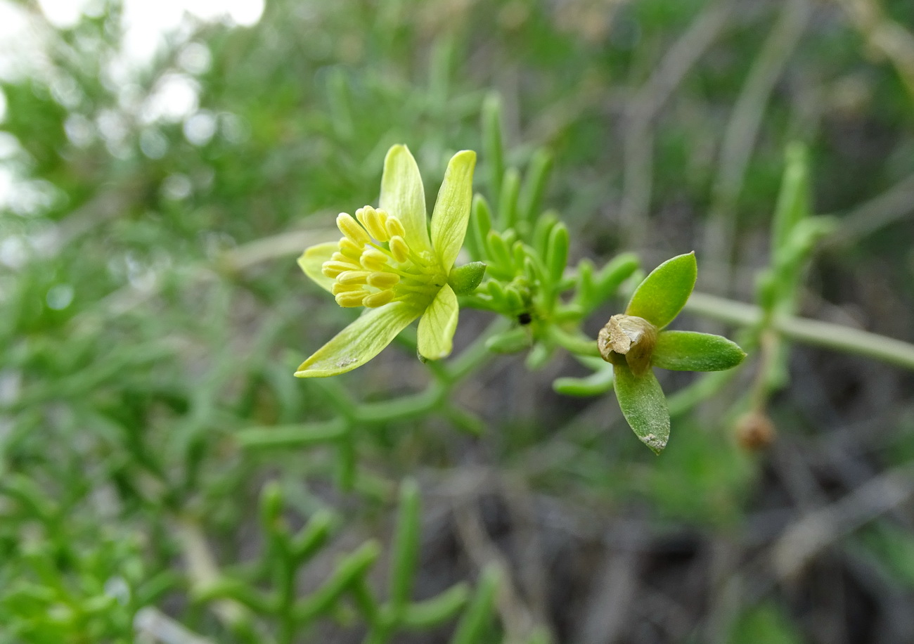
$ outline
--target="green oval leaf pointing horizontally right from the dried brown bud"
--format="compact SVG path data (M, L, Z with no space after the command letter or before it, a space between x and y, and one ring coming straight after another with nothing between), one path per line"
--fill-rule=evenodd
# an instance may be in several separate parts
M672 371L723 371L745 357L739 344L720 335L664 331L657 336L651 364Z

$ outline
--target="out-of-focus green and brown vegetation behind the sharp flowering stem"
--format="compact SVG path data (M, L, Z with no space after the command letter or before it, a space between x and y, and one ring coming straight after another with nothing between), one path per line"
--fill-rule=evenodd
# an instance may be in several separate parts
M805 144L835 224L792 307L914 342L908 0L271 0L142 64L117 2L4 11L0 642L909 641L902 367L752 336L777 347L728 381L664 376L711 385L660 457L613 396L553 391L583 373L561 354L430 371L408 338L292 377L351 319L295 257L376 203L392 143L430 196L480 151L495 200L493 95L507 163L551 154L574 261L695 249L733 301ZM683 328L738 322L699 309ZM462 312L458 354L491 317ZM387 402L436 382L434 413ZM315 433L353 401L344 443Z

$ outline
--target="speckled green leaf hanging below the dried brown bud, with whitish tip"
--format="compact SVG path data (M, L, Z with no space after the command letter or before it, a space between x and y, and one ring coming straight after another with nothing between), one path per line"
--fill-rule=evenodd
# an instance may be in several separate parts
M659 454L670 438L670 413L654 371L636 376L628 365L614 364L612 375L622 416L641 442Z

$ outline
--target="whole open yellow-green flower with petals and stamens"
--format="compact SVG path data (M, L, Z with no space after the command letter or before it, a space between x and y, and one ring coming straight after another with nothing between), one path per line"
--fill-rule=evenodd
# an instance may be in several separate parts
M457 329L457 295L448 285L463 245L473 199L476 153L453 155L431 215L416 160L405 145L384 159L377 209L340 213L338 242L318 244L298 259L305 274L345 307L365 311L305 360L302 378L343 374L367 363L416 318L419 353L437 360L451 353Z

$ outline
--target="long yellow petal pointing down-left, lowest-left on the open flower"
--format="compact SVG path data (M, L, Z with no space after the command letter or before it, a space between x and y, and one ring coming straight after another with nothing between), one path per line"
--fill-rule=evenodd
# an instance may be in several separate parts
M381 353L409 322L419 317L420 312L415 306L402 301L369 309L300 364L295 375L323 378L345 374L366 364Z

